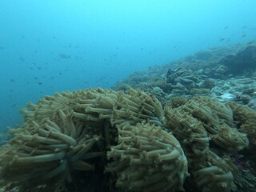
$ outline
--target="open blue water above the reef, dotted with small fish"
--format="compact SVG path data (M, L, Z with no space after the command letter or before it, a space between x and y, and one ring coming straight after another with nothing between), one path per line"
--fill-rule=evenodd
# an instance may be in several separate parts
M55 91L110 88L162 65L256 34L254 0L1 0L0 127Z

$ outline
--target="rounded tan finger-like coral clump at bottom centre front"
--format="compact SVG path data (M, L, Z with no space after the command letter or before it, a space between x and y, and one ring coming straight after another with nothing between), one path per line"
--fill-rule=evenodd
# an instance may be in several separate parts
M135 191L183 190L187 162L172 134L150 124L118 126L118 146L106 171L117 174L117 186Z

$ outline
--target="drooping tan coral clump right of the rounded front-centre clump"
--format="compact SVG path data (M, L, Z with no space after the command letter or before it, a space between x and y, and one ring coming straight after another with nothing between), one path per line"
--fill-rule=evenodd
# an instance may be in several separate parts
M204 150L210 139L217 146L229 152L242 150L249 145L246 134L238 132L234 126L233 111L230 106L205 97L191 98L183 103L174 110L166 108L166 127L170 127L174 131L174 135L176 135L176 130L181 131L181 128L186 128L188 129L185 131L186 133L192 131L192 135L187 135L186 140L200 142L203 145L201 148ZM180 129L178 129L179 123L182 123ZM207 138L207 135L210 138Z

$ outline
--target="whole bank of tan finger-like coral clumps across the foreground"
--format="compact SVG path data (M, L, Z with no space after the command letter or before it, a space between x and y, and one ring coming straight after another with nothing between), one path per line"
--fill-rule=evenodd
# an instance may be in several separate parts
M235 191L234 181L241 183L228 156L248 146L246 134L254 132L246 119L255 115L239 114L239 107L197 97L173 98L163 110L154 96L133 89L46 96L21 110L24 126L0 148L1 185L57 192L77 182L76 171L101 164L105 173L97 174L111 174L120 190L186 190L190 175L198 191Z

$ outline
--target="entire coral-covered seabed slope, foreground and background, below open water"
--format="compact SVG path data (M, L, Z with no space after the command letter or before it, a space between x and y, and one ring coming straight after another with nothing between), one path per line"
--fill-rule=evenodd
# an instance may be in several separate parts
M27 103L1 142L0 191L254 192L254 44Z

